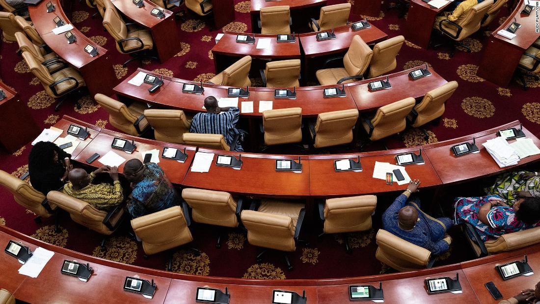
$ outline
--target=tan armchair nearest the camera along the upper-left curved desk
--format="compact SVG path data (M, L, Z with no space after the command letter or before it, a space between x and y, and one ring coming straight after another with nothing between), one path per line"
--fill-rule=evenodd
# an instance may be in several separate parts
M77 91L79 87L86 85L83 77L71 66L51 74L47 67L41 64L31 52L23 52L23 59L32 74L39 79L45 92L53 98L63 97L68 93ZM63 102L64 99L58 102L55 106L55 111L58 111Z

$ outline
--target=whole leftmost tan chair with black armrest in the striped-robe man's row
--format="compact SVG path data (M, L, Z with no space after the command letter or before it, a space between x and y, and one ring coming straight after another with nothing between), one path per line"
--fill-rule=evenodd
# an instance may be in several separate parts
M94 99L109 113L111 125L124 133L140 136L150 126L143 114L144 110L148 109L146 104L133 102L130 106L126 106L118 100L99 93L94 96Z

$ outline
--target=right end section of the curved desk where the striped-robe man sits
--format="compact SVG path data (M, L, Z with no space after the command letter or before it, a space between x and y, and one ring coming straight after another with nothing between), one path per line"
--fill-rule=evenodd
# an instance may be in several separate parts
M381 106L397 102L404 98L421 98L426 95L427 92L437 89L437 87L447 83L447 81L444 80L441 75L438 75L431 67L428 68L429 72L431 72L431 76L416 80L409 77L411 71L420 68L425 68L425 66L416 66L405 71L388 75L388 80L390 81L392 88L387 90L370 91L368 86L370 82L386 79L386 76L348 83L346 85L352 96L354 96L354 102L360 112L375 111Z

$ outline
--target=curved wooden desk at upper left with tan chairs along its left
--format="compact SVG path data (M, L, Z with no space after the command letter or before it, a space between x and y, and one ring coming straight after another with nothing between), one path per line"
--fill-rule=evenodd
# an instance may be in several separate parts
M55 35L52 29L56 25L52 19L58 16L65 24L71 24L71 22L62 10L62 6L58 0L51 0L56 9L53 12L47 13L45 5L48 2L42 1L38 5L29 6L28 8L32 22L39 35L49 45L51 50L55 51L58 56L79 70L92 98L97 93L111 95L113 93L111 84L117 84L119 80L114 74L112 61L107 54L107 50L86 37L75 25L73 25L71 32L77 37L76 42L68 44L64 33ZM98 50L98 55L92 57L86 53L84 48L87 44L95 47Z

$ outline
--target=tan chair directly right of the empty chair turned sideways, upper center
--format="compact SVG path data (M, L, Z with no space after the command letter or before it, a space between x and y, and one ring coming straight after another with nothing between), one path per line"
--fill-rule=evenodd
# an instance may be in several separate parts
M396 56L401 50L404 41L403 36L396 36L375 44L373 58L369 65L368 78L384 75L396 68Z

